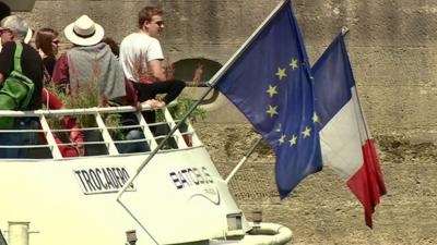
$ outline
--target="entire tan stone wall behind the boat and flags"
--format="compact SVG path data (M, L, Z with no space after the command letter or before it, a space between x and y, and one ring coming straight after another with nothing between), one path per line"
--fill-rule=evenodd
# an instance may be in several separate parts
M37 0L33 12L21 14L34 28L59 30L88 14L120 41L137 29L141 7L161 4L166 12L162 42L172 61L204 58L224 64L277 2ZM351 29L346 45L388 195L375 213L374 230L365 226L361 205L329 169L281 201L274 156L263 146L231 182L241 209L250 218L261 208L264 221L293 229L296 244L437 244L437 148L429 144L437 132L437 1L295 0L294 12L311 62L341 26ZM196 126L226 176L257 135L232 106L223 105Z

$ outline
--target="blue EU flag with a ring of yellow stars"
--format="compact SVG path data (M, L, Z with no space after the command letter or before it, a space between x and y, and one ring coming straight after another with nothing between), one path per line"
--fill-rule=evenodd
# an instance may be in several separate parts
M215 84L274 150L281 198L322 168L308 58L285 3Z

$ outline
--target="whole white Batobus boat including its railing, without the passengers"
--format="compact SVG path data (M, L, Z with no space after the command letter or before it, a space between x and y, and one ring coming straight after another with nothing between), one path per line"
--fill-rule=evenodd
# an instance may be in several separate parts
M192 125L181 128L169 107L164 120L147 124L133 107L0 111L0 117L34 118L38 130L0 130L0 134L35 133L43 144L2 145L27 148L31 156L0 159L0 244L286 244L292 231L281 224L248 221L215 168ZM143 110L151 110L144 108ZM108 114L134 113L138 124L109 126ZM54 135L66 132L50 121L92 117L97 132L85 151L62 157ZM152 133L164 125L168 134ZM118 130L141 128L144 139L117 140ZM172 132L173 131L173 132ZM167 142L167 144L164 144ZM121 154L120 144L143 143L150 150ZM64 145L74 145L66 143ZM103 150L102 150L103 149ZM255 216L253 216L255 217Z

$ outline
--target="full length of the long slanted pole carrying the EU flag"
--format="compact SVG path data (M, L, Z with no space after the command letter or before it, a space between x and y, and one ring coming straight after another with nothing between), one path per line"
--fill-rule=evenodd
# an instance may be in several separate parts
M160 145L153 149L153 151L149 155L149 157L141 163L141 166L137 169L134 175L132 175L129 181L123 185L123 187L118 192L117 201L120 203L121 195L126 192L128 186L132 184L132 182L137 179L140 172L144 169L144 167L151 161L151 159L157 154L162 146L167 142L169 137L176 132L176 130L182 124L182 122L192 113L192 111L203 101L203 99L210 94L212 89L214 89L215 83L223 76L223 74L231 68L231 65L241 56L241 53L246 50L247 46L249 46L255 38L259 35L262 28L270 22L270 20L290 0L283 0L277 7L270 13L270 15L261 23L261 25L253 32L253 34L246 40L246 42L234 53L234 56L220 69L215 75L208 82L210 86L206 91L200 97L194 105L188 110L188 112L182 117L182 119L172 128L172 131L165 136L165 138L160 143Z

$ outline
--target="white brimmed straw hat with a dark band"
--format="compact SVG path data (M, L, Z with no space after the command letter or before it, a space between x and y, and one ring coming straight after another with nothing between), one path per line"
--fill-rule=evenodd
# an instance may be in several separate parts
M75 22L69 24L63 29L63 34L74 45L93 46L103 39L105 30L87 15L82 15Z

